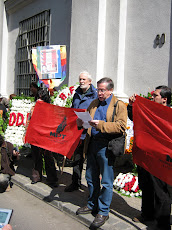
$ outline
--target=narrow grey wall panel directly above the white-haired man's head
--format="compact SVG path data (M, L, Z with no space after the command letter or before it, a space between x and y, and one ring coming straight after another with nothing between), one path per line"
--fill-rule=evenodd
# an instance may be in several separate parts
M99 0L73 0L70 42L69 85L87 70L96 84Z

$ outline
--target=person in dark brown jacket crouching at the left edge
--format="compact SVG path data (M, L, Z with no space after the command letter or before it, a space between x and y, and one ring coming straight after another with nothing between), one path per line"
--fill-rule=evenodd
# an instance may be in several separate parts
M18 159L19 153L10 142L4 141L0 135L0 193L10 188L11 176L15 174L14 159Z

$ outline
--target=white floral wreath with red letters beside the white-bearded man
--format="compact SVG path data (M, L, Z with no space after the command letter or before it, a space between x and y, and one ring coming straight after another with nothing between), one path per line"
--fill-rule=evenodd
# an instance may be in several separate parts
M51 103L53 105L70 108L77 87L78 85L70 87L63 85L59 91L54 92L54 95L51 97Z

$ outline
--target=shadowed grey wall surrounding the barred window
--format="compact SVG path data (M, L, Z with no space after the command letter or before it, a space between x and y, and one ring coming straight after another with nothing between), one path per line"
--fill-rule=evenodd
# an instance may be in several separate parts
M7 93L14 92L14 81L17 73L16 69L16 53L17 53L17 37L19 22L34 16L44 10L49 10L51 13L51 34L50 44L64 44L70 47L70 18L71 18L71 0L36 0L33 3L25 6L22 10L9 15L9 42L8 42L8 89Z

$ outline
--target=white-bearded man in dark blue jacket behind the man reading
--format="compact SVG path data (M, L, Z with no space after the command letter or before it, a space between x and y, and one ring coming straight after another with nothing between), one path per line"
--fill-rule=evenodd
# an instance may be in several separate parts
M96 89L91 82L92 78L88 72L83 71L79 74L80 86L76 89L74 94L72 108L87 109L90 103L97 98ZM65 192L73 192L81 187L81 175L84 163L83 146L85 136L86 131L83 131L80 138L80 143L74 152L72 183L65 188Z

